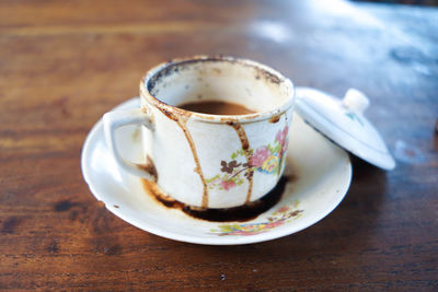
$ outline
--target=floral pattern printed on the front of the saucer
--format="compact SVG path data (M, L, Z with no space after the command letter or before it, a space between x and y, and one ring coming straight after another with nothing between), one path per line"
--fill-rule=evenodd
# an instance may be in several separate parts
M285 205L280 207L277 211L273 212L265 222L221 224L218 226L218 229L211 229L210 232L219 236L224 236L224 235L251 236L268 232L269 230L273 230L277 226L290 222L292 219L300 218L303 210L299 210L298 206L299 206L298 200L295 200L289 205Z

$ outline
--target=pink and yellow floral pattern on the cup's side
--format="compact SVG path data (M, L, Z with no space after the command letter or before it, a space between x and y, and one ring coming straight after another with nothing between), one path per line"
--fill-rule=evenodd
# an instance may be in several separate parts
M245 162L246 155L243 149L233 152L229 161L222 160L220 162L220 173L206 179L208 188L230 190L235 186L242 185L245 177L249 178L254 172L279 175L285 163L288 130L289 127L285 126L277 132L273 143L262 145L255 150L249 149L247 152L251 156L247 162Z

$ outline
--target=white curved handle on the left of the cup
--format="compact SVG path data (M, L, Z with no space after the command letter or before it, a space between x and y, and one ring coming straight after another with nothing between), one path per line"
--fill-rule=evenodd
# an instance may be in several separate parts
M141 108L115 110L103 115L103 128L105 132L106 144L116 163L127 173L149 179L157 180L157 174L152 171L152 165L142 165L124 159L117 150L116 130L119 127L128 125L143 125L153 130L153 122L150 114L146 114ZM151 162L147 162L151 163Z

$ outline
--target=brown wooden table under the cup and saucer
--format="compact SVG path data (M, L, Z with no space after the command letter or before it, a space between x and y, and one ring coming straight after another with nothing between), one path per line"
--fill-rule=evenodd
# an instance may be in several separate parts
M438 10L344 1L0 3L0 290L438 290ZM173 242L99 203L94 122L152 66L246 57L367 93L397 167L354 160L318 224L246 246Z

